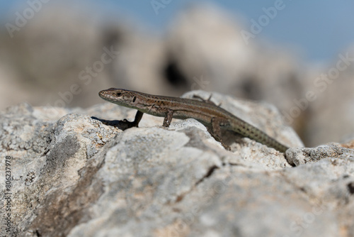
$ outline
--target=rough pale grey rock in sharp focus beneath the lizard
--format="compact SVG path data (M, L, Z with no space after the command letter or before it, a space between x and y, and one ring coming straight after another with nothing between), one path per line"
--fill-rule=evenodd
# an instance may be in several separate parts
M302 147L273 106L212 100ZM135 111L109 103L55 111L19 104L0 113L3 175L11 157L8 236L354 236L353 143L292 148L292 160L321 159L289 163L234 133L224 134L233 140L224 150L193 119L163 128L163 118L144 115L140 128L121 131L98 118ZM4 194L4 178L0 185Z

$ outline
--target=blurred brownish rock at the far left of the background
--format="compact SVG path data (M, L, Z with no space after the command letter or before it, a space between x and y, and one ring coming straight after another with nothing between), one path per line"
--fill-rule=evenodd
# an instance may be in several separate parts
M6 68L0 68L0 82L7 90L0 94L0 109L21 101L38 106L91 106L99 101L92 97L97 88L111 83L112 64L101 62L102 57L110 60L105 52L113 47L105 27L62 2L52 2L45 9L35 12L13 37L7 31L0 33L0 64ZM14 24L15 18L6 22Z

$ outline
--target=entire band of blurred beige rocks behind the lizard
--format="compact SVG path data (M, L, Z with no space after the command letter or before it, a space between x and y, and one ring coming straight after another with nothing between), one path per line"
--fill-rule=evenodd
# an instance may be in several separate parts
M45 6L13 38L0 34L0 109L21 101L91 106L108 87L170 96L203 89L275 104L307 146L353 136L354 65L324 89L316 78L339 57L328 68L312 67L260 35L246 44L240 32L248 29L236 17L194 4L158 34L124 18Z

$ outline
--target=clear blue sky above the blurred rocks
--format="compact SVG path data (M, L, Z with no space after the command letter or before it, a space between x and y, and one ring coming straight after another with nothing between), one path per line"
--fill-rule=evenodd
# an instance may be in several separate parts
M40 0L0 0L0 14L14 21L16 11L23 11L28 1ZM54 0L51 0L54 1ZM164 5L156 14L152 2ZM257 20L264 14L263 8L275 6L275 1L282 0L101 0L81 1L95 9L91 13L102 16L129 16L136 23L163 32L173 17L186 4L211 2L220 9L225 9L235 18L242 19L244 28L251 26L251 19ZM76 1L77 5L77 1ZM284 9L263 28L261 38L273 44L292 46L298 49L306 60L329 62L335 60L338 53L343 53L354 43L354 1L353 0L283 0ZM258 38L258 35L257 35Z

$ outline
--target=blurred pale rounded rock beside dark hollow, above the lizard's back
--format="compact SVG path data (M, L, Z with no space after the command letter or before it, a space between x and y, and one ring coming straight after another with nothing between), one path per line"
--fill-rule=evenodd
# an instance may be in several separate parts
M190 4L176 15L166 34L168 79L188 90L264 99L287 109L304 88L299 62L294 53L262 43L261 35L245 40L241 32L250 28L238 17L212 4Z

